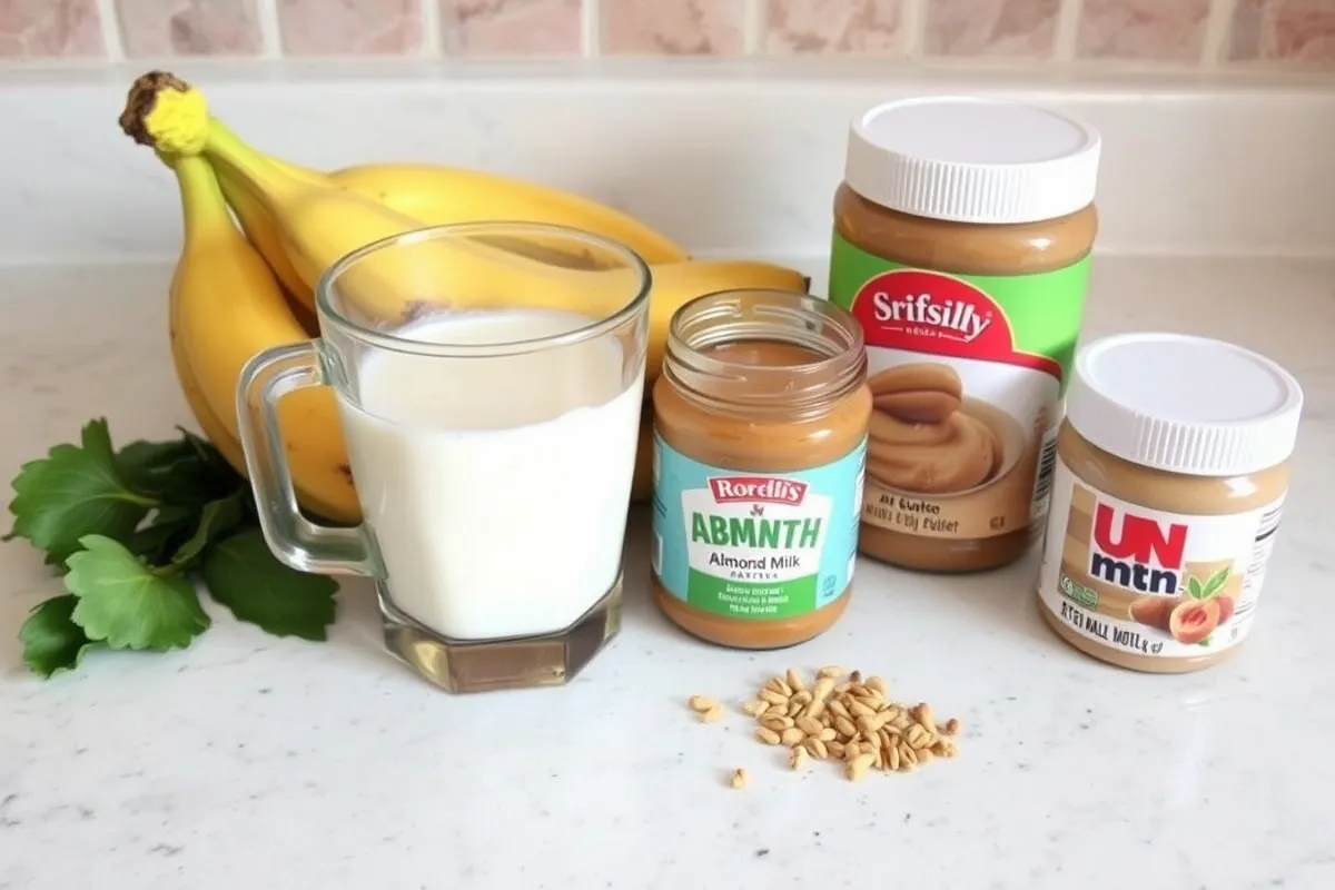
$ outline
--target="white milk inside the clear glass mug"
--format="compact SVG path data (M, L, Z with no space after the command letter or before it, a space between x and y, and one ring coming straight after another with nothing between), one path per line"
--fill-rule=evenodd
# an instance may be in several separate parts
M398 336L503 343L591 323L515 310L430 318ZM455 639L561 630L617 579L643 372L594 340L527 355L375 352L339 398L352 478L394 604Z

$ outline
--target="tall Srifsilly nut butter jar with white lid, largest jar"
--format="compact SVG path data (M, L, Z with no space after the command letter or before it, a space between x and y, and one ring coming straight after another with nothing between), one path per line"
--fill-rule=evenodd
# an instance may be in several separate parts
M963 572L1047 511L1097 230L1099 135L1009 101L929 97L850 128L829 299L866 339L862 552Z

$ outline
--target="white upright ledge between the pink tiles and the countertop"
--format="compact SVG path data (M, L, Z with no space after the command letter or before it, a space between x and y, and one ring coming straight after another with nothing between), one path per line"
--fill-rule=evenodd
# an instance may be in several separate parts
M696 252L829 248L849 120L881 101L968 92L1037 101L1104 137L1104 250L1330 255L1335 89L1320 77L1041 76L821 59L547 67L174 63L258 148L336 168L481 167L630 211ZM0 77L0 266L168 259L171 177L116 125L144 69ZM1172 195L1172 200L1157 196ZM1148 199L1147 199L1148 197Z

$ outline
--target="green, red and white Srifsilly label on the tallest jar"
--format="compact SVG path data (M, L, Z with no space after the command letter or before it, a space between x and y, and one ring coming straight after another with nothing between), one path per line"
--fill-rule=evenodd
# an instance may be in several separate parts
M836 232L829 299L862 326L876 403L862 522L969 539L1044 516L1088 279L1088 256L1033 275L955 275Z

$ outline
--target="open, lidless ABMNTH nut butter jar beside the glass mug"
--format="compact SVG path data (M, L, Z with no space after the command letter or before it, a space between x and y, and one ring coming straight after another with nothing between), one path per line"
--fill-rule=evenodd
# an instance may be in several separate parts
M654 383L653 591L688 632L777 648L849 600L872 395L862 332L804 294L673 316Z

